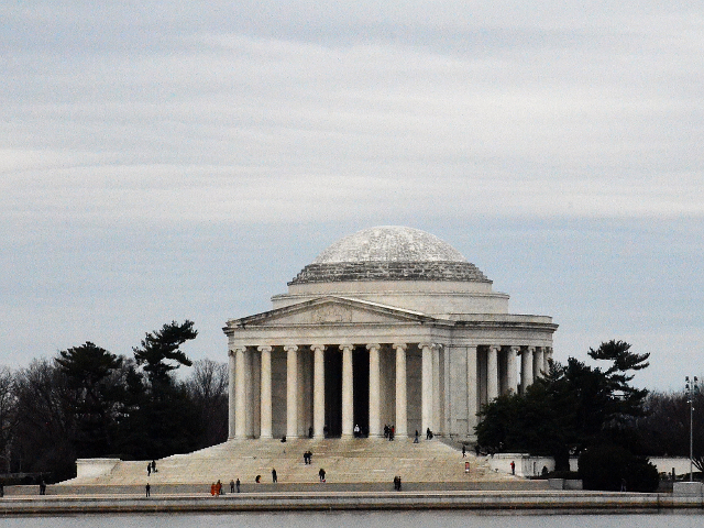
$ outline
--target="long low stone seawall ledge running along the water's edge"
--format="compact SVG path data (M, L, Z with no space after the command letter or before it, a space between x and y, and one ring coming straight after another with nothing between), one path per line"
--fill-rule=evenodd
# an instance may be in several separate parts
M512 513L695 512L702 497L602 492L290 492L210 495L41 496L0 499L0 515L202 513L349 509L462 509Z

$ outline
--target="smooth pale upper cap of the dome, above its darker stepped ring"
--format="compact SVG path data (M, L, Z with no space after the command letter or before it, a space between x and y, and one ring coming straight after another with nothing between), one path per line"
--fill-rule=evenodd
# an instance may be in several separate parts
M466 262L466 258L435 234L383 226L344 237L320 253L314 264L334 262Z

